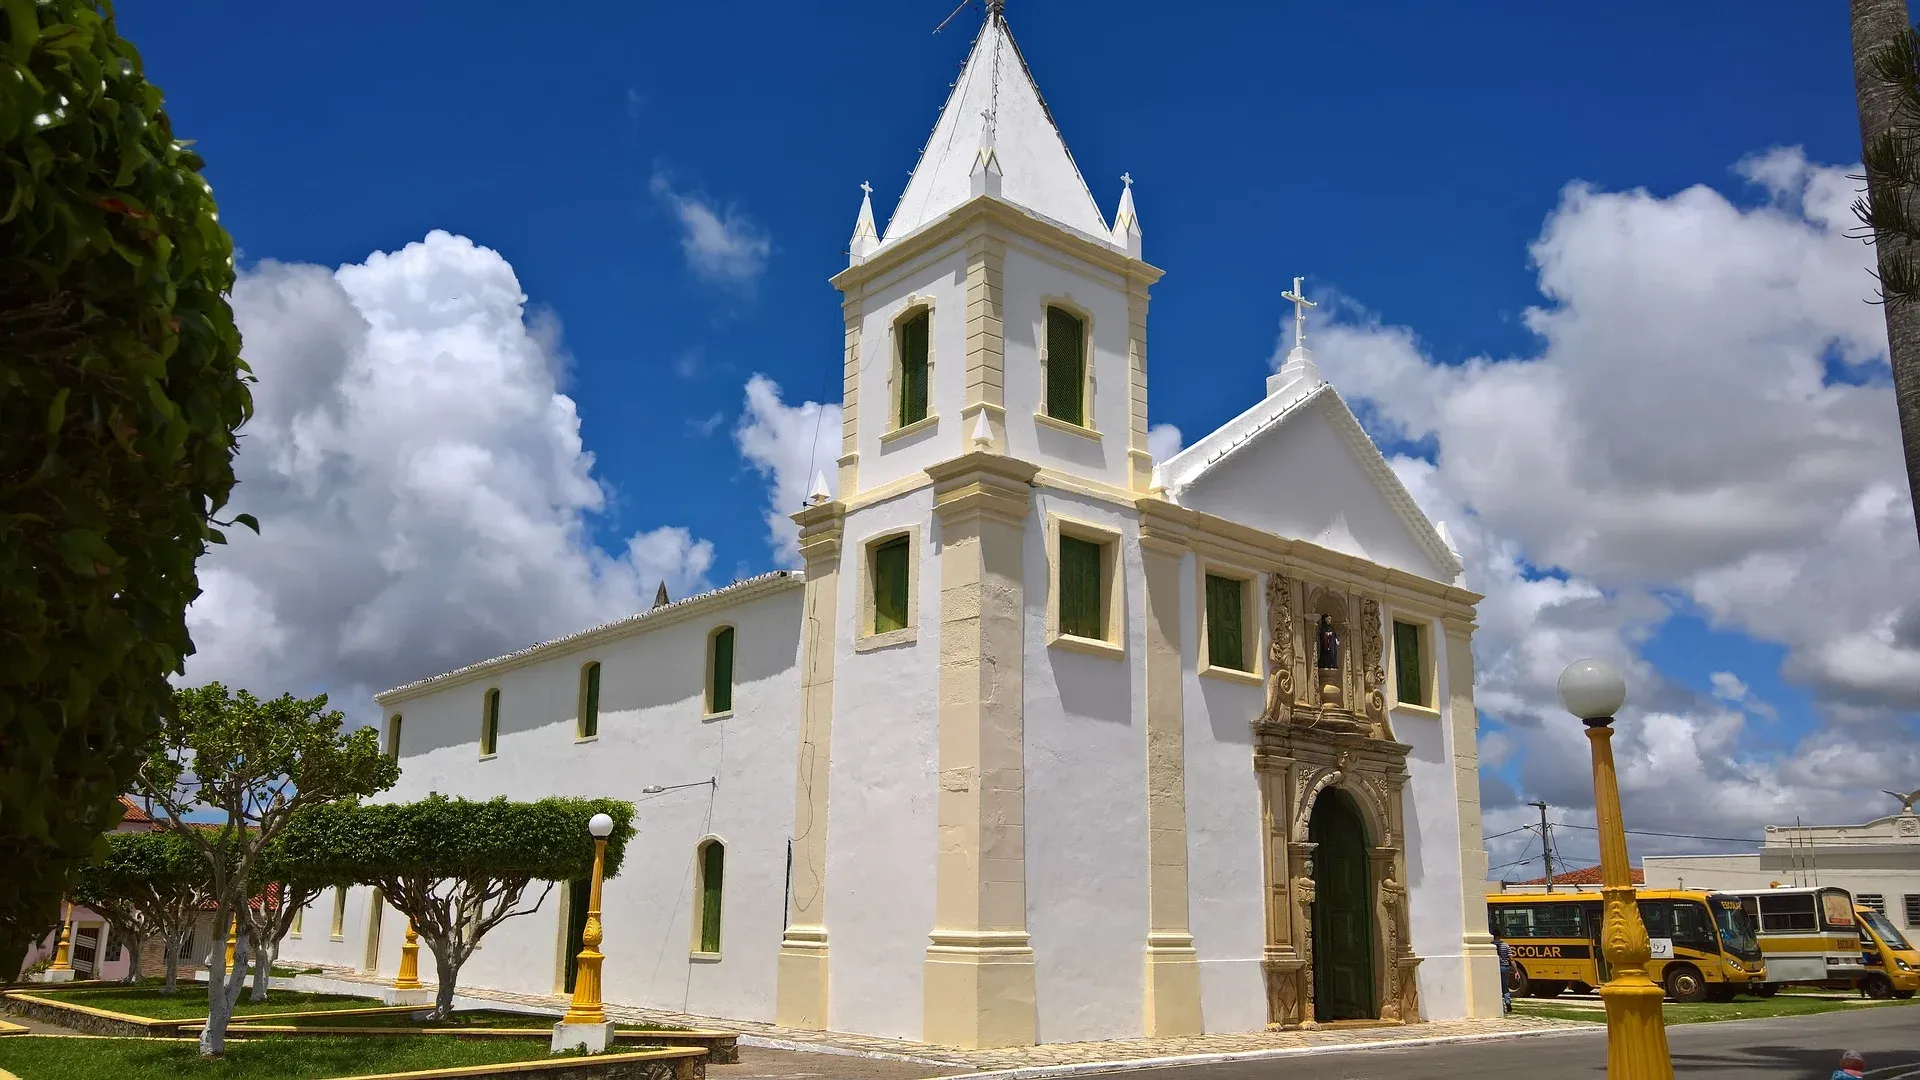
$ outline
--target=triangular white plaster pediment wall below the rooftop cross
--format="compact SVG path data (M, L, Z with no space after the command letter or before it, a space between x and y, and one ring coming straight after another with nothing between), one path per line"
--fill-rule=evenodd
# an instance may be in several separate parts
M1405 521L1380 498L1346 438L1325 411L1332 398L1265 430L1181 492L1181 505L1215 513L1265 532L1309 540L1382 567L1434 580L1434 561Z

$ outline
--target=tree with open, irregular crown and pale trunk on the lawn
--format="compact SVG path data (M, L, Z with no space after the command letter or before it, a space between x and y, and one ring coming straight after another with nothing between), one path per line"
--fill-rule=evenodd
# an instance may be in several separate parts
M326 694L263 701L219 682L175 692L136 788L154 801L154 821L184 836L205 863L215 926L230 926L273 882L275 844L296 811L372 796L399 778L374 730L346 732L344 723ZM209 813L211 822L190 821ZM242 957L253 953L250 917L240 917L236 938L232 972L225 949L213 949L204 1055L227 1045L227 1020L246 986Z

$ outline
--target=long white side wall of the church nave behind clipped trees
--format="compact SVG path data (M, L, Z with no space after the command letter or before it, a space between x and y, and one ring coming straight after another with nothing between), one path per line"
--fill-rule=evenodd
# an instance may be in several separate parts
M793 753L799 707L803 590L795 586L716 605L657 630L586 646L492 676L405 700L401 778L382 801L442 792L486 799L612 796L636 801L636 836L624 872L607 882L605 997L718 1017L772 1020L774 965L785 920L787 834L793 822ZM733 713L703 719L707 634L735 626ZM576 740L580 669L601 663L599 736ZM497 755L480 759L482 700L501 692ZM643 796L651 784L695 786ZM691 959L695 847L726 844L720 959ZM349 890L338 940L328 936L334 894L307 909L290 963L361 969L369 955L372 890ZM528 899L540 896L538 888ZM461 982L518 994L561 984L564 888L532 915L509 919L480 944ZM394 974L405 917L386 909L374 969ZM420 974L432 980L422 949Z

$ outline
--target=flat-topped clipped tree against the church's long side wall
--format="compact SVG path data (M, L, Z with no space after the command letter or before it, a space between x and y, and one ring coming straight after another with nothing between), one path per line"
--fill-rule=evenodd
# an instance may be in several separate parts
M332 884L378 886L413 920L434 953L434 1017L445 1019L461 967L480 940L507 919L538 911L553 882L591 872L588 819L595 813L612 819L603 869L611 878L634 838L634 803L618 799L330 803L296 815L286 846ZM540 896L526 903L534 882Z

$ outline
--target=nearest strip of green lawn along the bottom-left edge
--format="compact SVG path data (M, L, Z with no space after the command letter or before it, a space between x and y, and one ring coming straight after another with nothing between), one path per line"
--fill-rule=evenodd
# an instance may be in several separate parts
M238 1034L238 1030L236 1030ZM228 1040L227 1055L202 1061L190 1042L177 1040L73 1040L56 1036L8 1036L0 1040L0 1068L19 1080L317 1080L501 1065L547 1057L543 1045L524 1040L411 1040L369 1038L259 1038Z

